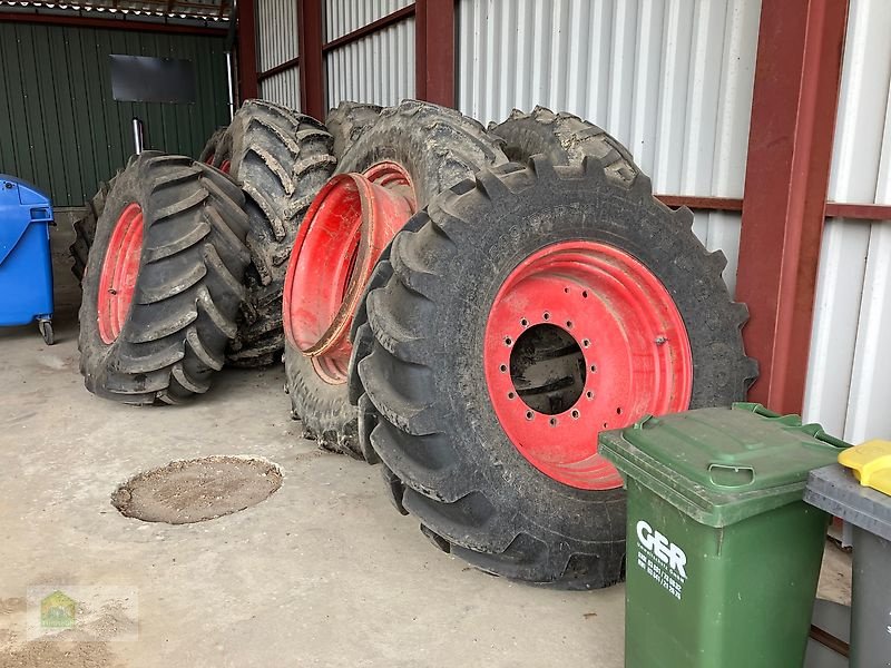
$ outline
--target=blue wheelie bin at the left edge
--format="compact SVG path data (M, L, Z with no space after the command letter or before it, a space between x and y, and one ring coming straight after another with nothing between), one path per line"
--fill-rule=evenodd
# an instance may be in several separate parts
M52 345L52 263L49 197L14 176L0 174L0 326L37 321Z

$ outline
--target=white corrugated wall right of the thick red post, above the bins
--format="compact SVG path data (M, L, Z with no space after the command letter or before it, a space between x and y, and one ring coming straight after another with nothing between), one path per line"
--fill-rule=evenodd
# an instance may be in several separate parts
M830 199L891 204L891 3L853 0ZM891 438L891 222L830 219L804 414L859 442Z

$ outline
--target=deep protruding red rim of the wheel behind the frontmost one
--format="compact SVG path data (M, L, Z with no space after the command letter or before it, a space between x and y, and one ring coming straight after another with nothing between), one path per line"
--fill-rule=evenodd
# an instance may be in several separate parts
M362 293L415 207L408 173L379 163L331 178L306 212L285 275L283 320L291 345L325 382L346 382L349 331Z

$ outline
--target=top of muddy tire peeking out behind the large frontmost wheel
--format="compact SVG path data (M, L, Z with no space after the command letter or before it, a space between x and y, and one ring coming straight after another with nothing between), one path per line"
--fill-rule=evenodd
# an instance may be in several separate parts
M526 165L544 154L555 165L580 165L593 156L606 165L607 177L629 184L639 169L618 140L596 125L571 114L555 114L536 107L531 114L513 109L503 122L489 124L489 131L505 141L511 163Z

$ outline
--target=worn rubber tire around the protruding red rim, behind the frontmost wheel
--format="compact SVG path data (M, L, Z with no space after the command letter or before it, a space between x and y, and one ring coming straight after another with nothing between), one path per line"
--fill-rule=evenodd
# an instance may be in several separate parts
M454 109L407 100L381 111L344 154L337 174L364 171L382 160L398 163L411 176L420 209L479 169L506 163L499 145L479 122ZM292 414L303 421L305 435L325 450L361 456L346 384L326 383L291 345L285 346L285 376Z

